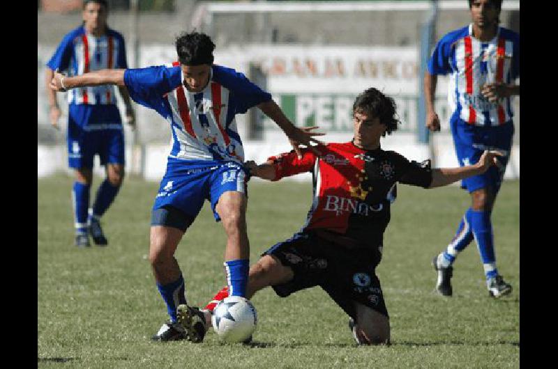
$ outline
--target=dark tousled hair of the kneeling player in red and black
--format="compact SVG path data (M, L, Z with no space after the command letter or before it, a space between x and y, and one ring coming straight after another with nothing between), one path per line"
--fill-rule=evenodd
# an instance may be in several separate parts
M379 118L379 123L387 127L382 136L391 134L400 123L393 98L384 95L377 88L368 88L360 93L353 104L353 113L364 113L368 118Z

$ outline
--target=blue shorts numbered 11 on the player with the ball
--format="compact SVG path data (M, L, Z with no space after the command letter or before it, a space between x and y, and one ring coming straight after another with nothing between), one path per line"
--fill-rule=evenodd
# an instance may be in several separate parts
M223 160L168 159L167 172L161 180L153 204L153 211L172 206L194 219L202 210L204 200L211 202L216 221L220 221L216 206L220 196L227 191L248 194L248 175L236 162Z

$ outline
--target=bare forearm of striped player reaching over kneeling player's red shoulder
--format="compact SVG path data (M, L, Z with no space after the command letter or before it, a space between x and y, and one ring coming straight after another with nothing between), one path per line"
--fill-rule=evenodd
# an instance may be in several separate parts
M323 145L321 141L313 138L313 136L323 136L323 133L310 132L309 129L300 129L299 127L296 127L285 116L278 104L276 104L273 100L262 102L257 107L263 111L266 116L269 116L269 118L271 118L271 120L273 120L283 132L285 132L287 137L289 137L291 146L294 148L294 151L299 158L302 157L300 145L307 146L316 155L322 155L319 150L314 148L310 143L314 142L318 145Z

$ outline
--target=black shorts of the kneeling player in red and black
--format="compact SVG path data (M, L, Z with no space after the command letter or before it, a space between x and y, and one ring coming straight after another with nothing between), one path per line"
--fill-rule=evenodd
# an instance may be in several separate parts
M294 271L294 278L273 285L280 297L319 285L345 313L356 319L354 301L389 317L375 274L377 255L370 249L345 249L312 233L296 233L264 252Z

